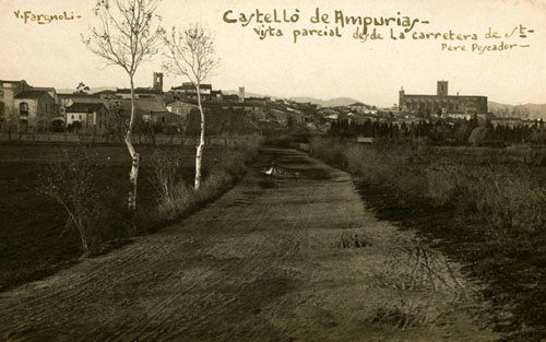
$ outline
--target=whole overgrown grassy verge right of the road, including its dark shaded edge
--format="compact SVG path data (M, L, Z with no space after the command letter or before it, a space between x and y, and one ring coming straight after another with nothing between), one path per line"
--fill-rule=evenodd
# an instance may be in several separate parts
M510 341L546 337L546 191L525 166L463 164L430 148L311 142L311 154L355 174L380 219L434 238L487 284ZM500 312L510 312L501 315Z

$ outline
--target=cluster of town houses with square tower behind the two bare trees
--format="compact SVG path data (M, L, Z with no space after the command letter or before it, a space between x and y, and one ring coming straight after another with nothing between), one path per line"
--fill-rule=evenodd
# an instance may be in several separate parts
M180 130L188 115L198 107L197 90L191 83L163 91L163 74L153 73L151 87L134 90L140 123ZM205 109L233 109L250 121L278 126L308 123L317 119L318 106L271 97L245 96L201 84ZM17 131L83 131L108 133L115 130L131 109L130 89L96 93L76 91L57 93L54 87L32 86L26 81L0 80L0 126ZM321 118L322 119L322 118Z

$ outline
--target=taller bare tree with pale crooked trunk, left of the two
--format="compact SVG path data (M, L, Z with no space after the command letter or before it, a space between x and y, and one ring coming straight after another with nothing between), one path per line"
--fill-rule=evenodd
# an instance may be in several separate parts
M135 117L134 74L140 63L157 52L163 30L155 24L161 21L154 15L156 0L98 0L94 12L99 20L98 27L91 28L90 37L82 37L85 45L108 64L119 66L128 73L131 82L131 116L127 122L124 142L132 158L129 180L129 210L136 209L136 180L140 154L131 142ZM155 19L155 20L154 20Z

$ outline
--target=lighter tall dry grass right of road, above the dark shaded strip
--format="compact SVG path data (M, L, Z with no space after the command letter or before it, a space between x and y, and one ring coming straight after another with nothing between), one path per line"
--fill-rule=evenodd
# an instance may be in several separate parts
M480 215L499 238L542 232L546 225L546 190L529 168L460 164L449 154L436 158L430 149L311 142L311 154L341 166L373 186L394 188L401 198L452 205Z

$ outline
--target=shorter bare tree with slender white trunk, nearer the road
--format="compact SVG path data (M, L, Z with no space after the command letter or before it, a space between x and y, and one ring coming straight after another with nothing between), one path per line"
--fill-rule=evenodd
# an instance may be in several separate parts
M201 101L201 84L206 80L218 60L215 56L214 42L211 34L199 24L193 24L183 31L173 27L165 35L165 66L167 72L187 78L195 87L198 106L201 114L201 133L195 152L195 181L194 189L201 187L201 164L205 145L205 116Z

